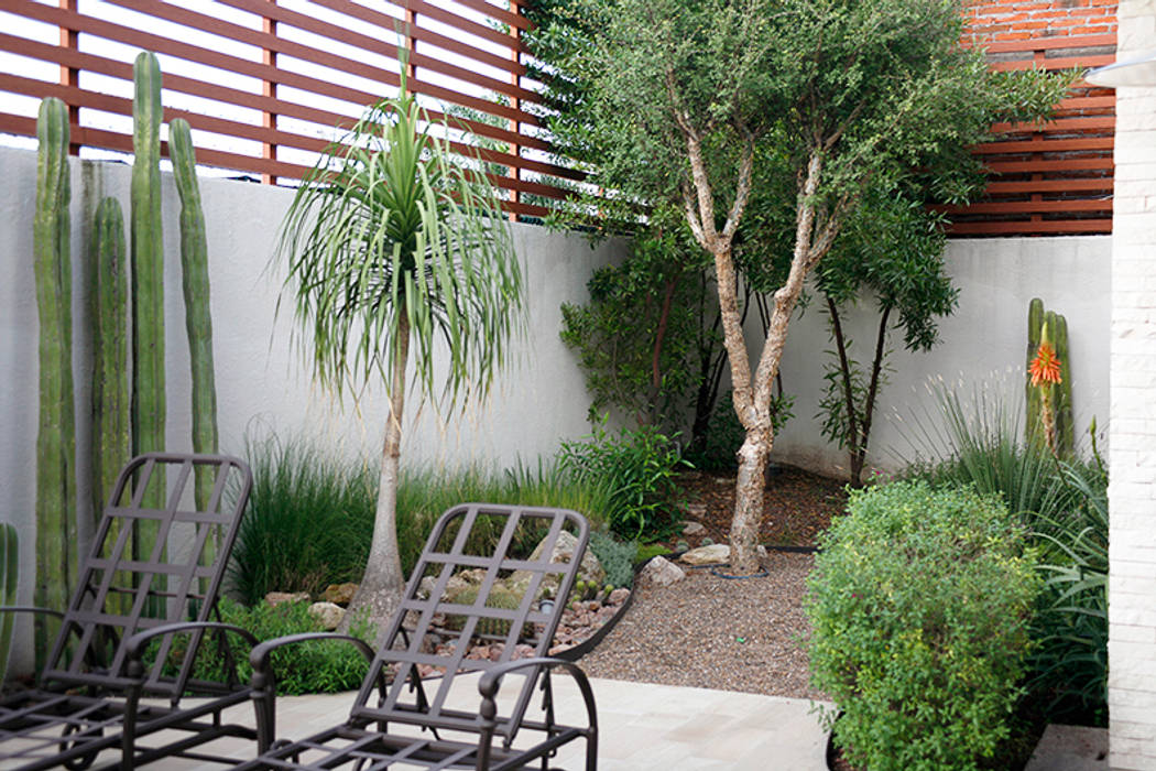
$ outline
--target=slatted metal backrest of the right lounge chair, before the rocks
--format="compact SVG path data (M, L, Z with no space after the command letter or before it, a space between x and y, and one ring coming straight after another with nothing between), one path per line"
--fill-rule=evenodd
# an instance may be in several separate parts
M550 562L558 539L565 538L564 532L575 539L570 558ZM528 541L531 547L541 539L542 546L535 553L538 558L511 556L516 544L526 548L527 536L533 539ZM480 546L492 543L495 538L496 547ZM586 519L564 509L468 503L446 511L417 558L401 609L394 615L370 667L351 720L476 729L476 712L459 712L446 706L454 676L459 672L486 670L510 661L519 642L533 647L532 653L523 647L524 655L548 654L587 540ZM459 590L457 595L451 591L449 599L454 602L443 599L451 579L460 585L464 571L474 571L474 588L465 593ZM512 593L506 586L498 586L499 581L509 585L511 577L519 587ZM431 580L423 586L423 578ZM553 608L541 607L543 583L553 586L556 600ZM496 601L499 595L503 601ZM403 633L402 625L407 621L409 629ZM501 653L495 651L484 660L465 658L470 639L479 636L499 643ZM409 681L418 665L444 674L440 680L430 680L414 690ZM392 670L394 677L386 696L379 698L373 685L383 669ZM498 733L506 739L512 739L517 732L536 680L536 676L525 677L513 707L499 716ZM427 695L435 689L432 696Z

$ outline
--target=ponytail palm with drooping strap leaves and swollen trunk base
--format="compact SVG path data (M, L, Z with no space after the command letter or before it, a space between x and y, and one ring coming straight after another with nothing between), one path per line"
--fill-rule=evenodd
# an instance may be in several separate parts
M486 398L525 324L497 193L447 134L402 89L329 148L282 225L286 287L314 377L338 394L380 380L390 398L373 541L350 606L379 627L405 583L395 507L407 366L418 395L452 414Z

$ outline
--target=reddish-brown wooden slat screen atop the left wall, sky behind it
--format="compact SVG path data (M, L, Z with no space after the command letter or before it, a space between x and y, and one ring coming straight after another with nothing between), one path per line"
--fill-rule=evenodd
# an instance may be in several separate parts
M0 0L0 132L34 135L39 99L58 96L84 155L131 151L132 60L149 50L164 73L164 119L188 120L199 163L296 180L336 127L397 92L408 29L409 88L432 118L446 105L481 138L507 209L538 216L564 194L557 179L581 176L550 162L525 109L539 97L521 64L524 2Z

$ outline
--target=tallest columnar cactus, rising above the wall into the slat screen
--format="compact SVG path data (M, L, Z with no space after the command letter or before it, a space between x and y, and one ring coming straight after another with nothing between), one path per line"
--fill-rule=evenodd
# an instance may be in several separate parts
M164 450L164 245L161 237L161 66L141 52L133 64L132 292L133 453ZM154 485L150 485L153 488ZM163 506L156 485L149 506ZM141 522L136 544L148 556L155 526Z

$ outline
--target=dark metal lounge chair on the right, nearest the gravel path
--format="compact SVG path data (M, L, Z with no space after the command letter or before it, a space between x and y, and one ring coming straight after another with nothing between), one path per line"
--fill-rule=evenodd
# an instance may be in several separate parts
M511 547L526 528L536 535L544 533L543 548L535 551L540 557L514 558ZM491 554L477 554L479 533L487 529L491 536L498 534L497 547ZM564 529L576 536L573 553L569 562L550 562ZM558 747L584 739L585 768L594 771L598 726L590 683L573 663L546 658L587 536L586 520L572 511L489 504L450 509L435 525L384 642L377 654L371 654L369 673L346 722L297 742L274 742L275 679L269 655L282 645L327 636L295 635L253 650L253 698L264 754L240 768L507 771L532 768L536 761L538 768L548 769ZM459 590L450 595L452 601L443 599L451 579L462 571L473 572L476 588ZM514 592L499 585L511 578L518 581ZM553 599L539 599L543 581L556 585ZM490 644L492 655L466 658L472 638ZM502 645L501 654L495 644ZM520 652L532 658L514 658L519 644ZM422 680L420 668L425 674L430 674L429 668L443 674ZM550 674L556 669L577 682L585 702L583 727L555 720ZM472 677L465 675L476 672L481 677L477 692L472 692ZM391 675L392 683L385 684ZM497 691L507 676L521 677L521 687L503 695L513 694L513 699L503 700L502 713ZM458 702L458 709L449 705L455 683L459 692L465 687L467 697ZM526 710L535 688L542 691L543 716L529 719ZM470 709L462 709L462 703ZM533 743L516 748L513 742L521 731Z

